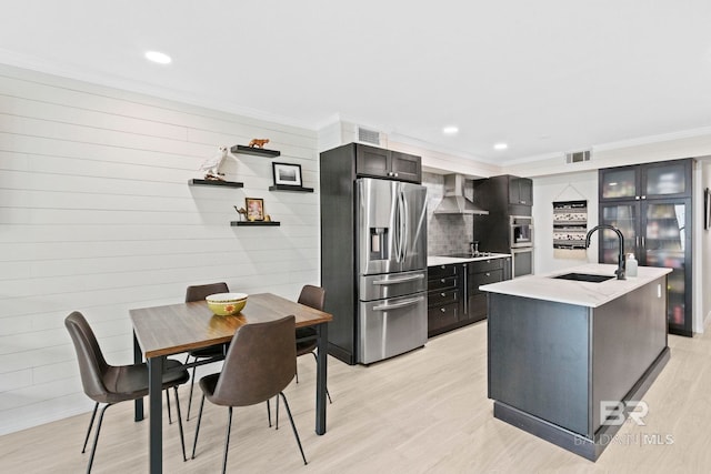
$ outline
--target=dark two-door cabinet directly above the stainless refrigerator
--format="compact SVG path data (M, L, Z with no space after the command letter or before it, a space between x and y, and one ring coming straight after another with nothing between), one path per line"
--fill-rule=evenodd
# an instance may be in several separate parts
M422 159L400 151L356 144L356 174L422 182Z

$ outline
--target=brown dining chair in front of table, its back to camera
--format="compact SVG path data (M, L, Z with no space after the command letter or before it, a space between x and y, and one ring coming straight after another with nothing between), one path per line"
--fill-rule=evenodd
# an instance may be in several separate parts
M294 316L287 316L278 321L246 324L234 333L222 365L222 372L207 375L200 380L202 400L192 445L192 458L196 457L206 397L216 405L228 407L227 437L222 458L222 472L224 473L230 447L232 407L254 405L268 401L272 396L281 395L303 464L307 464L289 403L282 392L297 372L294 321Z

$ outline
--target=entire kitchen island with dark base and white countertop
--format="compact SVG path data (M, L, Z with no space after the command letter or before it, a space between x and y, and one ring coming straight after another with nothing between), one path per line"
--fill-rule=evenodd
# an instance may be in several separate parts
M640 401L670 356L671 269L640 266L637 278L617 280L615 268L588 264L480 288L489 300L494 417L591 461L637 406L625 402ZM594 275L610 279L581 281Z

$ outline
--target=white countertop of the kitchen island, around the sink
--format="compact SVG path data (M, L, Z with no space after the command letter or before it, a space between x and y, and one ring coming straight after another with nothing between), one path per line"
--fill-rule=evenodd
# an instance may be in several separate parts
M565 273L614 275L615 270L617 265L589 263L587 265L572 266L542 275L527 275L499 283L491 283L479 286L479 289L491 293L598 307L672 271L672 269L664 268L640 266L638 269L638 276L628 276L627 280L618 280L615 276L602 283L555 280L551 278ZM667 291L667 289L663 289L663 291Z

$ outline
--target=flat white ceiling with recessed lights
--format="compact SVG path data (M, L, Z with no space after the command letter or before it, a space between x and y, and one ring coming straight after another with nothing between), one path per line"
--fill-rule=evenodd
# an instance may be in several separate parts
M0 62L481 161L711 125L709 0L3 3Z

